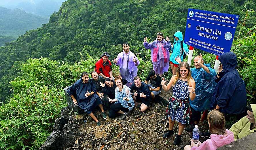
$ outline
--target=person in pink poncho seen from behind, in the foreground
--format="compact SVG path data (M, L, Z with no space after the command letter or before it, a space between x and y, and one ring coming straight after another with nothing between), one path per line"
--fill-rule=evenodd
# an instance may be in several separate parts
M208 114L208 124L210 128L211 139L195 144L191 140L191 146L186 145L184 150L216 150L219 147L230 144L234 141L234 134L230 130L224 129L225 117L221 112L212 110Z

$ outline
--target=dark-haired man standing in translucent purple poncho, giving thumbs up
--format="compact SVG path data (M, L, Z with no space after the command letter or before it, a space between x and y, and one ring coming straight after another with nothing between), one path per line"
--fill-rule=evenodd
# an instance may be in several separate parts
M119 53L113 62L119 66L122 78L127 80L126 86L130 87L133 83L133 78L137 76L139 59L129 51L129 43L123 43L123 51Z

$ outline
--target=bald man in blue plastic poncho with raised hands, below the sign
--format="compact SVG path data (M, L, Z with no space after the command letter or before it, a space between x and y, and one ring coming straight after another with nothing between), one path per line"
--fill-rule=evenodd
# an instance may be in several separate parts
M175 60L180 63L179 57ZM195 125L198 125L201 112L209 109L211 104L211 98L213 96L214 87L216 82L214 76L216 75L215 70L211 68L210 64L204 64L202 54L194 58L195 68L191 68L191 76L196 82L196 98L191 101L189 99L189 105L191 106L191 121L193 124L185 128L185 130L191 132Z

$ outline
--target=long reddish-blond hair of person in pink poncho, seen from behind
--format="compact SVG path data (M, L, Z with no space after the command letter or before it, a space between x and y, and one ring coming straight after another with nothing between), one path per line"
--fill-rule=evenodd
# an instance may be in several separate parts
M210 126L210 132L212 134L225 134L225 117L224 115L217 111L217 110L212 110L208 114L208 122Z

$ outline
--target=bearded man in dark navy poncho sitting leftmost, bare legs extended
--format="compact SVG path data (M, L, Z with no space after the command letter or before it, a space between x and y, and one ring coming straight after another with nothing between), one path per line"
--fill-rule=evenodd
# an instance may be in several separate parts
M103 118L107 118L100 98L98 95L94 94L96 93L96 88L92 81L89 80L89 74L87 72L83 72L81 78L77 80L67 92L73 99L73 103L78 105L81 109L84 109L84 111L96 121L97 126L100 126L100 122L92 113L96 106L100 107Z

